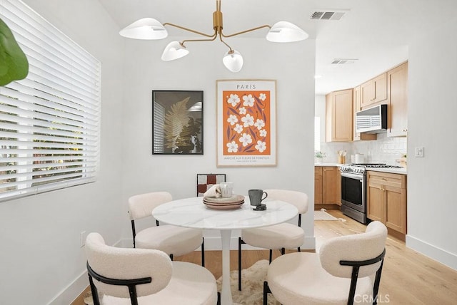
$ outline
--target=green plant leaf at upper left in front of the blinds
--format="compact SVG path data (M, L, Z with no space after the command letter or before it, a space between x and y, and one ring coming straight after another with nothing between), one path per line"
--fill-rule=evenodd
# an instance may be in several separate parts
M9 27L0 19L0 86L29 74L29 61Z

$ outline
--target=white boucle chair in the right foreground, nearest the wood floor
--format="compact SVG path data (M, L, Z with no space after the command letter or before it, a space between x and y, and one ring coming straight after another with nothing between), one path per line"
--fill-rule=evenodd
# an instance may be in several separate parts
M283 305L376 304L387 228L371 222L366 231L333 237L319 253L286 254L268 267L263 304L268 292Z

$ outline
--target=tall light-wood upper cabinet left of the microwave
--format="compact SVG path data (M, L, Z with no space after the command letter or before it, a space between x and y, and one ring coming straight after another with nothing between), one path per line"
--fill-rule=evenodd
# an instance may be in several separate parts
M353 130L352 89L326 95L326 142L350 142Z

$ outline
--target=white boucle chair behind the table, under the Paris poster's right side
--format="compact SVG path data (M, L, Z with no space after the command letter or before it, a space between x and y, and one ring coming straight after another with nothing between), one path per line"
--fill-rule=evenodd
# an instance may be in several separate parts
M241 230L241 237L238 237L238 290L241 290L241 244L270 249L269 262L271 263L274 249L280 249L281 254L284 254L286 249L298 249L300 252L304 242L305 232L301 228L301 214L308 211L308 195L293 190L265 190L265 192L268 198L282 200L296 206L298 226L284 222L269 227Z

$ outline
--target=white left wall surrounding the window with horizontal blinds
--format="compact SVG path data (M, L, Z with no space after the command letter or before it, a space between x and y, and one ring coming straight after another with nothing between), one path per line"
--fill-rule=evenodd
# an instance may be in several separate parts
M87 286L82 231L121 237L123 43L98 1L26 0L102 62L101 172L89 185L0 203L0 304L68 305Z

